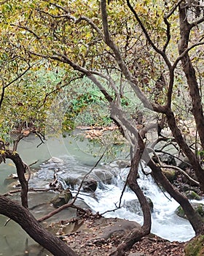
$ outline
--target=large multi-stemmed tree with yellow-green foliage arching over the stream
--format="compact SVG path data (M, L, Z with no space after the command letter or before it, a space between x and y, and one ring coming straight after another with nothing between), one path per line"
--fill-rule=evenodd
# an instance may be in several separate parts
M144 124L139 130L122 106L122 98L128 88L141 100L149 115L157 114L156 127L163 127L165 117L173 139L188 157L200 188L204 191L203 167L199 156L185 140L178 121L186 116L194 118L199 137L196 143L200 143L202 151L203 71L199 58L194 59L193 56L204 44L203 34L199 31L204 21L203 5L200 1L138 3L127 0L126 3L110 1L107 6L106 1L101 0L100 7L95 2L90 6L87 6L86 1L77 3L28 1L22 6L20 1L16 1L14 6L7 1L4 4L4 19L13 19L9 21L9 31L15 30L12 46L19 55L23 53L24 56L26 53L34 60L50 59L57 65L63 65L67 72L74 69L76 74L87 76L109 102L111 118L130 143L132 164L127 184L141 202L144 225L139 233L127 237L114 254L124 255L125 250L150 231L150 211L136 181L141 159L151 167L152 176L180 203L195 233L203 233L203 221L187 197L169 183L161 167L155 164L149 154L150 145L145 143L144 138L149 129L155 128L155 123ZM6 9L7 4L9 9ZM98 8L101 16L98 15ZM178 52L175 50L177 41ZM197 61L197 70L193 61ZM183 72L179 69L180 63ZM200 82L197 74L200 74ZM184 87L189 89L192 115L182 108L176 109L177 101L181 101L182 105L187 97L187 93L184 93L183 99L178 96Z

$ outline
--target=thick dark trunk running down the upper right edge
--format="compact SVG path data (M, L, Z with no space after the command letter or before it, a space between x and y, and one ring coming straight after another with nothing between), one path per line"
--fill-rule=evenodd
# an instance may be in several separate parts
M187 20L187 4L186 3L180 4L179 6L179 21L180 21L181 38L178 44L178 51L181 54L181 53L184 53L184 50L188 48L189 35L193 27L188 23L188 20ZM200 137L201 145L204 149L204 132L203 132L204 116L203 116L202 99L200 97L200 91L197 84L195 68L192 66L192 61L189 58L189 53L186 53L185 56L181 59L181 64L187 78L187 83L189 86L189 94L192 99L192 114L195 118L197 132Z

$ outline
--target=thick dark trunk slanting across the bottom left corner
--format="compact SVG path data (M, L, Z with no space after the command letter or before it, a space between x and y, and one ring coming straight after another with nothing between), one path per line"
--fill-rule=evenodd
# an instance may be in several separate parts
M76 256L76 253L63 241L47 232L27 208L2 195L0 195L0 214L17 222L31 238L50 251L52 255Z

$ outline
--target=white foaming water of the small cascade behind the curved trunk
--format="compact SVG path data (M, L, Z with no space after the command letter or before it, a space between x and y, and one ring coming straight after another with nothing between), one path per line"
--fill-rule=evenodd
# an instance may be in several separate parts
M98 211L101 214L106 212L104 214L105 217L134 220L142 225L142 213L138 213L137 209L136 212L129 211L125 207L127 202L131 203L136 200L136 195L129 188L125 189L122 197L122 208L110 211L119 206L119 199L128 171L128 168L121 169L119 175L112 178L111 184L104 185L103 189L99 187L95 191L95 196L98 200L93 199L93 197L85 197L85 200L94 211ZM149 170L146 171L147 173L149 172ZM139 176L138 184L143 190L144 195L149 197L154 204L154 211L152 212L152 233L169 241L188 241L195 236L195 232L189 221L181 219L174 213L178 207L178 203L155 184L152 176L146 176L141 171L139 172Z

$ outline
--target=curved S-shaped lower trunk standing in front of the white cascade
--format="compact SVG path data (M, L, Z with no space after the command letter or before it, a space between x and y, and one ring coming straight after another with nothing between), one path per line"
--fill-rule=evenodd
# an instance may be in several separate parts
M146 197L144 196L144 193L141 191L141 188L138 186L137 182L138 164L141 160L143 152L144 142L141 136L138 135L138 145L133 159L131 160L130 173L127 176L127 184L129 185L130 189L132 189L133 192L136 193L136 196L138 197L138 200L141 204L144 215L144 224L141 228L136 228L135 230L132 230L130 234L127 234L127 236L125 236L125 238L122 238L122 244L119 244L116 252L111 253L112 256L125 255L125 252L131 249L133 244L135 244L137 241L140 241L141 238L143 238L144 236L148 235L151 230L152 222L149 203L147 202Z

